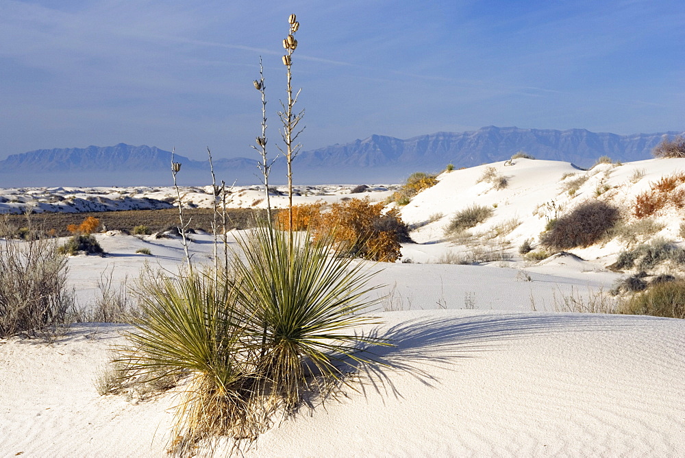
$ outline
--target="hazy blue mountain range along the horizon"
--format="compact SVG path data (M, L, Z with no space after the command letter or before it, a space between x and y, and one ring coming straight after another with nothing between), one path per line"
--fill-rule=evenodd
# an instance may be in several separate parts
M538 130L488 126L471 132L437 132L401 140L372 135L345 145L301 152L295 180L303 184L400 182L414 171L440 171L449 163L473 167L506 160L524 151L538 159L590 167L600 156L630 162L651 157L664 136L682 132L617 135L584 129ZM206 184L208 161L175 156L182 162L181 184ZM171 152L146 145L39 149L0 161L0 187L162 185L171 181ZM256 184L255 158L214 158L217 180ZM277 160L271 182L282 184L284 161Z

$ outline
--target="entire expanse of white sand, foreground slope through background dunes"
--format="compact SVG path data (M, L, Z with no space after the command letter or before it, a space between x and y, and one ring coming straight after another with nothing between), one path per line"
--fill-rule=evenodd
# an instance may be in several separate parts
M444 173L436 186L401 209L414 225L416 243L403 245L405 263L367 263L379 270L373 282L384 285L375 294L389 297L369 311L384 324L359 330L393 339L395 347L375 349L386 365L358 367L350 375L357 391L345 387L325 405L312 400L313 409L303 407L295 418L274 426L246 455L685 456L685 322L557 312L564 297L587 300L623 277L606 266L625 243L610 241L540 263L517 252L525 239L536 244L553 216L545 204L573 208L594 198L600 183L608 184L601 199L620 206L632 221L635 195L680 170L683 162L648 160L591 171L562 162L514 162L512 167L492 165L508 176L506 189L477 183L489 166L474 167ZM636 170L644 170L644 176L636 178ZM588 180L571 196L562 186L564 173L586 174ZM155 191L157 197L153 190L143 194L161 200L167 191ZM208 194L197 191L188 199L194 196L192 202L200 205ZM245 206L260 198L258 189L244 191L240 202ZM299 202L357 197L342 187L311 192ZM360 197L384 200L391 192L376 189ZM0 195L24 199L13 193ZM0 205L18 207L12 199ZM473 229L470 245L447 239L444 228L451 215L473 203L492 206L493 217ZM654 219L663 228L652 237L682 246L684 217L682 208L660 210ZM488 235L511 219L519 219L512 232L497 239ZM240 235L231 233L232 246ZM146 261L171 272L183 262L177 239L117 232L96 237L108 256L69 260L70 284L82 305L97 295L103 274L111 272L119 285L125 278L132 282ZM193 237L193 260L210 263L212 237ZM440 261L447 254L493 243L510 256L473 265L440 263L447 262ZM138 248L148 248L153 256L136 254ZM164 455L173 394L138 400L99 396L95 388L108 349L123 343L120 334L127 329L79 324L51 342L0 340L0 455ZM220 448L218 456L225 451Z

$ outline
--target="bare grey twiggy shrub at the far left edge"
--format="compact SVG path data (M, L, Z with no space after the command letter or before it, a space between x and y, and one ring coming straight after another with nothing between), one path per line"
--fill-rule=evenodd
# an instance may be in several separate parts
M0 250L0 337L47 333L73 311L66 258L54 241L4 241Z

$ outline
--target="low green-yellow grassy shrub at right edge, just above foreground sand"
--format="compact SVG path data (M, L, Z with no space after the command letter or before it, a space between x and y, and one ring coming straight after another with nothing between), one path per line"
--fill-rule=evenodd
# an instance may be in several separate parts
M685 281L660 282L627 301L624 313L685 318Z

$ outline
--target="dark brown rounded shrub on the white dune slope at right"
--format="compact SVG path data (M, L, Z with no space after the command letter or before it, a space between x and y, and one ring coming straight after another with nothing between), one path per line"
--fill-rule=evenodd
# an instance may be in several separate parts
M618 208L590 200L559 217L551 230L540 235L540 243L553 250L588 247L604 239L617 221Z

